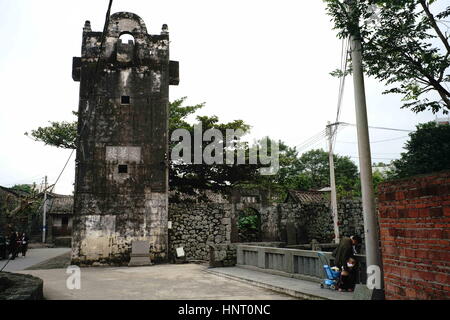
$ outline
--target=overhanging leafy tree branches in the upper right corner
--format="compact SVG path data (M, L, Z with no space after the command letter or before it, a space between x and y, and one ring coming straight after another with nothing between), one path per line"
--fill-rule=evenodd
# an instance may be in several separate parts
M445 18L450 16L450 7L437 14L430 8L444 1L355 0L352 10L342 0L324 1L338 37L361 38L365 72L393 85L384 93L402 94L402 108L414 112L448 113L450 43ZM348 72L351 67L332 74Z

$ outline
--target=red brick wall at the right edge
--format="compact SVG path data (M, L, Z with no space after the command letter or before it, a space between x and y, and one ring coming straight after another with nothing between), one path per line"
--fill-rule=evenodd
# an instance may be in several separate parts
M387 299L450 299L450 172L383 183L378 210Z

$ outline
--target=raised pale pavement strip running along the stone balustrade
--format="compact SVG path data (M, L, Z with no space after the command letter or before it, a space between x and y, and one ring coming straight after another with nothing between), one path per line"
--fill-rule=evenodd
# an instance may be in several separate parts
M353 297L351 292L322 289L317 282L282 277L239 267L212 268L208 272L303 299L351 300Z

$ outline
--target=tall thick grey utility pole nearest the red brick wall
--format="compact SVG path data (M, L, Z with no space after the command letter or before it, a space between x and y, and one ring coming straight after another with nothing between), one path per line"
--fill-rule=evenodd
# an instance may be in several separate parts
M352 14L352 5L356 0L346 0ZM359 21L354 24L354 33L350 35L350 48L352 54L353 86L355 94L356 128L358 134L359 169L361 179L361 193L364 216L364 236L366 244L367 267L379 268L379 284L384 290L383 268L379 246L377 215L375 210L375 193L372 181L372 160L370 154L369 127L367 121L366 95L364 89L364 74L362 67L362 46L359 33Z

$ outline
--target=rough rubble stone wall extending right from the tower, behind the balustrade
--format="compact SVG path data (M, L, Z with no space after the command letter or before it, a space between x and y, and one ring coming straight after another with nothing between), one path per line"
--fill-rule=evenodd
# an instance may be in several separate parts
M213 260L220 263L232 261L235 248L229 245L237 242L232 239L237 224L237 219L233 217L244 207L242 204L227 202L170 203L169 221L172 222L172 229L169 230L169 258L173 257L176 248L183 247L188 260L209 260L210 246L213 245ZM302 244L316 239L320 243L329 243L334 238L333 221L327 203L252 204L251 207L261 216L263 242ZM364 236L359 200L339 203L339 221L342 236L354 233ZM228 256L231 258L228 259Z

